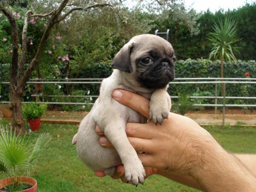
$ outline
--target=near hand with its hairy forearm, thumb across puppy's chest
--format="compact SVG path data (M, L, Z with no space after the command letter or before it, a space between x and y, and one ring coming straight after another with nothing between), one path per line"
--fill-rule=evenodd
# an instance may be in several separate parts
M148 118L148 99L126 90L115 90L112 96ZM241 160L188 117L169 113L162 126L128 123L126 132L134 149L146 152L138 155L143 165L174 181L206 191L255 190L256 177ZM104 137L99 142L111 147Z

